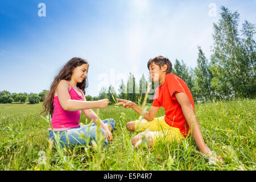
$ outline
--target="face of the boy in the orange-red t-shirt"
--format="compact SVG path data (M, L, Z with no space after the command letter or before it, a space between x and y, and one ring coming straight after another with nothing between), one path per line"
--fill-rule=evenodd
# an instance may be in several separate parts
M166 75L167 65L165 64L163 67L159 67L159 65L152 62L149 66L149 74L151 76L152 81L159 82Z

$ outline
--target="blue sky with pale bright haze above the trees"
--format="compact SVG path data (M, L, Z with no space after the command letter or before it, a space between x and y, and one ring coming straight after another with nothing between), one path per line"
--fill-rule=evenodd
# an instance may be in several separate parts
M38 4L46 16L38 16ZM209 4L217 15L209 16ZM39 93L72 57L89 61L86 95L117 89L129 72L147 76L147 61L162 55L195 68L197 46L209 58L220 6L256 24L256 1L0 1L0 91Z

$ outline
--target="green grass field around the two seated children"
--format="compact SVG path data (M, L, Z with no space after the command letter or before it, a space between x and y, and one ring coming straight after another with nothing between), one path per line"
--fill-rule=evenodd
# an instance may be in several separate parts
M224 159L210 164L193 137L135 150L130 139L137 133L127 131L126 123L139 115L122 106L94 110L117 123L108 148L96 143L60 150L48 143L42 104L0 104L0 170L255 170L255 109L255 100L196 105L205 142ZM160 109L157 117L162 115ZM81 123L86 123L83 113Z

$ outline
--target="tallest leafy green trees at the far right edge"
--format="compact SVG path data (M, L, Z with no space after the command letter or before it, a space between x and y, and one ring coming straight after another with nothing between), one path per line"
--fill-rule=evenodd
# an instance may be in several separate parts
M220 97L255 97L255 27L245 21L240 38L240 14L221 6L221 18L213 23L212 86Z

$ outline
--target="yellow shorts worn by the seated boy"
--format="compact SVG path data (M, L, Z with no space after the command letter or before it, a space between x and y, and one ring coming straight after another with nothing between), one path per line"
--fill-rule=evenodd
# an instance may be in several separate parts
M141 122L136 120L135 131L149 133L152 136L154 143L159 139L167 140L168 142L174 142L174 140L181 142L182 139L185 139L180 133L180 129L167 125L166 121L164 121L164 116L154 118L150 122L146 119L142 119Z

